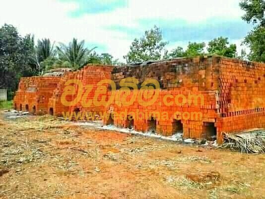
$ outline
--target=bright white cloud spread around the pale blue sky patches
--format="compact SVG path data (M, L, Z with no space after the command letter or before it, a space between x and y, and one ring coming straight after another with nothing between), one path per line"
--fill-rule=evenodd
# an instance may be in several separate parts
M128 52L132 41L125 32L107 30L106 27L138 28L138 20L144 18L184 19L198 23L210 17L239 18L242 15L239 0L129 0L128 7L77 18L68 14L78 8L76 3L59 0L2 1L0 25L12 24L22 35L33 33L36 38L48 37L57 42L67 43L73 37L85 39L86 42L105 45L107 52L120 59Z

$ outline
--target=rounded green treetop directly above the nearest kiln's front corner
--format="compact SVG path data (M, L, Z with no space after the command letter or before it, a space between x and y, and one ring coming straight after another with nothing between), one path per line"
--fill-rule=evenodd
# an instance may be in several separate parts
M218 37L208 43L207 51L209 54L235 58L237 46L236 44L229 45L228 38Z

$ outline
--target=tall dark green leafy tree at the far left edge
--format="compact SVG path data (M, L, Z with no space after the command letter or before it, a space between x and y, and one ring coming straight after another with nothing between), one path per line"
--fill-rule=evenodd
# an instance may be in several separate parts
M8 24L0 28L0 86L7 87L9 94L16 90L20 77L36 74L34 53L33 36L21 37Z

